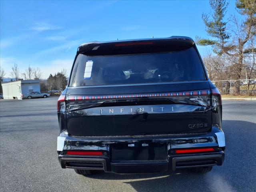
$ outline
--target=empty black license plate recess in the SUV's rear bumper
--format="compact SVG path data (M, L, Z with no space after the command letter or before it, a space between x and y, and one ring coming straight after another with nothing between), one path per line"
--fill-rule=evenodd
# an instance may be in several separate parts
M166 160L166 143L120 143L111 145L112 161Z

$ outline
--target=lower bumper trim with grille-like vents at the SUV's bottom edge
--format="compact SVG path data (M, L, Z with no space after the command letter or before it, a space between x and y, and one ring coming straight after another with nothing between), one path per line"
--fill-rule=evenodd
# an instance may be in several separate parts
M118 174L157 173L179 168L222 165L224 152L193 154L186 156L168 156L167 160L120 161L111 162L110 158L59 156L62 168L104 170Z

